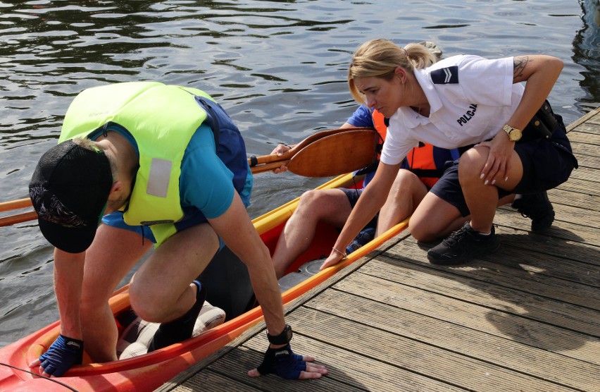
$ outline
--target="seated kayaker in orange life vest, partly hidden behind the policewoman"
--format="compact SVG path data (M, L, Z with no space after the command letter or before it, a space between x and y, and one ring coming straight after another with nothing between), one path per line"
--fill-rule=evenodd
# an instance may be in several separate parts
M387 118L378 111L371 111L361 105L341 128L374 127L385 140ZM287 145L278 145L273 153L287 151ZM446 161L458 159L458 150L449 150L427 145L415 147L406 157L403 169L398 172L387 202L382 207L379 216L372 219L359 234L354 247L346 250L351 252L364 245L379 233L385 233L389 228L410 216L418 206L427 191L442 176ZM375 174L377 165L362 169L358 174L365 174L363 189ZM286 171L285 166L275 169L275 173ZM299 257L308 247L315 235L319 221L325 221L342 228L358 201L363 189L346 188L309 190L301 196L294 214L287 221L282 231L277 247L273 253L273 265L277 278L285 275L289 264Z

